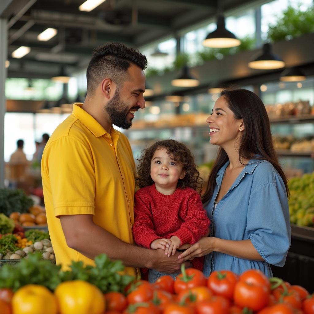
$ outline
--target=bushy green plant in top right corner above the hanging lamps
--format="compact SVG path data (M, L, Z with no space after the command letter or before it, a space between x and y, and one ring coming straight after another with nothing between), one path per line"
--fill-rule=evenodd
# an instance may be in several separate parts
M283 16L277 16L277 21L273 25L268 25L268 38L271 41L289 40L303 34L314 32L314 7L306 11L288 6L283 12Z

